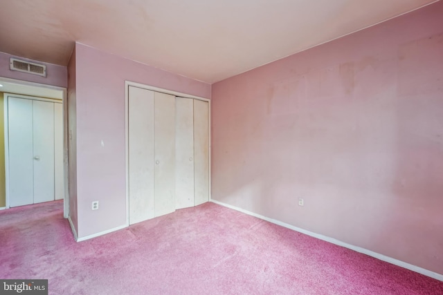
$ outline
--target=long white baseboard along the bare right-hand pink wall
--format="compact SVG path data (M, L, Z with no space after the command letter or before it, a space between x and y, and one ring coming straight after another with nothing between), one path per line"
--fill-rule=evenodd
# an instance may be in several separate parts
M300 227L294 227L293 225L289 225L289 224L287 224L285 222L282 222L280 220L276 220L276 219L273 219L273 218L268 218L266 216L262 216L260 214L253 213L251 211L247 211L247 210L244 210L242 208L235 207L235 206L230 205L230 204L226 204L224 202L219 202L217 200L211 200L211 202L213 202L215 204L219 204L219 205L224 206L224 207L228 207L230 209L234 209L236 211L240 211L240 212L248 214L250 216L254 216L254 217L260 218L262 220L269 221L269 222L271 222L271 223L273 223L275 225L280 225L282 227L286 227L287 229L292 229L293 231L298 231L298 232L300 232L302 234L306 234L307 236L318 238L319 240L325 240L326 242L330 242L332 244L335 244L335 245L338 245L338 246L341 246L341 247L345 247L347 249L351 249L351 250L354 250L356 252L359 252L359 253L362 253L362 254L366 254L368 256L372 256L374 258L377 258L379 260L385 261L387 263L391 263L393 265L397 265L399 267L403 267L403 268L412 270L413 272L417 272L419 274L423 274L424 276L429 276L431 278L435 278L436 280L443 281L443 274L437 274L436 272L431 272L428 269L424 269L422 267L417 267L415 265L411 265L409 263L405 263L404 261L401 261L401 260L398 260L398 259L386 256L386 255L383 255L383 254L379 254L377 252L374 252L374 251L371 251L371 250L368 250L368 249L365 249L365 248L362 248L362 247L350 245L350 244L347 244L346 242L342 242L341 240L336 240L335 238L330 238L328 236L323 236L322 234L316 234L316 233L313 233L312 231L307 231L306 229L300 229Z

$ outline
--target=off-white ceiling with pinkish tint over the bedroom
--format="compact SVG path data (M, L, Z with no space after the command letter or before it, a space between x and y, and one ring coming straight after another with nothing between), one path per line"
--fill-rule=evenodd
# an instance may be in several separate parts
M66 66L74 41L213 83L435 0L0 0L0 52Z

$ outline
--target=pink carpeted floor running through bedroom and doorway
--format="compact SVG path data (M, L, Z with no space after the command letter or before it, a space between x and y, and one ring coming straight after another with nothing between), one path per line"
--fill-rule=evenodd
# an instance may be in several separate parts
M0 211L0 278L49 294L443 294L443 282L217 204L75 242L62 202Z

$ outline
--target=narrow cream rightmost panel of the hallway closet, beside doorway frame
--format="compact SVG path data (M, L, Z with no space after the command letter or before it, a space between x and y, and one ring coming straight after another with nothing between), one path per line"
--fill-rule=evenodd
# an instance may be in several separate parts
M54 104L54 182L55 200L64 197L63 175L63 105Z

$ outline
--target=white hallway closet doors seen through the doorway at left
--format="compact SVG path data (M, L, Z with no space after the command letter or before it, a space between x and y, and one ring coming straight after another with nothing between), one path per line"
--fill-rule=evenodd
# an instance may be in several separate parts
M10 207L63 198L62 102L6 95Z

